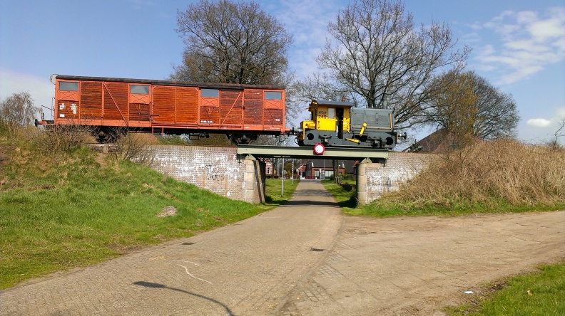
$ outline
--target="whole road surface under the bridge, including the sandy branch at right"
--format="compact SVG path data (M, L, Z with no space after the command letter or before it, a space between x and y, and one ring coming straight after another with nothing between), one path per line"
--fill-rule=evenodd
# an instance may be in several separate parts
M342 216L319 181L233 225L0 291L0 315L443 315L565 257L565 212ZM534 293L535 295L535 293Z

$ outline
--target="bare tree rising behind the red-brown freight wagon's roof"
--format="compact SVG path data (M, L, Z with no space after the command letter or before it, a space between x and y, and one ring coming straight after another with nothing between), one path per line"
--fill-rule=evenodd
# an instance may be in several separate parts
M186 47L173 80L287 84L292 36L255 2L200 0L177 14Z

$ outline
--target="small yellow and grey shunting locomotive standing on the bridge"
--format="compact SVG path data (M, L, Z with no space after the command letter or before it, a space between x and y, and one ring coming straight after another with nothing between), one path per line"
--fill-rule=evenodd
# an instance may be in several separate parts
M302 121L297 130L300 146L324 144L336 147L392 149L398 137L394 111L355 107L352 102L312 100L311 120Z

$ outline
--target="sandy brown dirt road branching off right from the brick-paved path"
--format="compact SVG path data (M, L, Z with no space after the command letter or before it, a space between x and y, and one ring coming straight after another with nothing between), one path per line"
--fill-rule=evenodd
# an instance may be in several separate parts
M565 260L565 212L346 217L285 315L444 315L493 283ZM464 291L473 294L464 294Z

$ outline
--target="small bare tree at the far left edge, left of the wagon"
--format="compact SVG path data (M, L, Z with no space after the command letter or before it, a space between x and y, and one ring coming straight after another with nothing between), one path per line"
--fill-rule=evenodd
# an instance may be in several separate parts
M33 124L36 107L27 92L14 93L0 103L0 135L11 138Z

